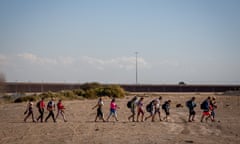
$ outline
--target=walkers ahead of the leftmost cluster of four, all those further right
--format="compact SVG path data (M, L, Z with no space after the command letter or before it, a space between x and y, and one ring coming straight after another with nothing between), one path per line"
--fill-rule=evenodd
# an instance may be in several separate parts
M189 110L188 122L195 121L195 115L196 115L195 108L197 106L195 99L196 99L195 97L192 97L190 100L186 101L186 107ZM161 101L162 101L161 96L159 98L153 99L145 107L146 111L149 113L149 115L146 117L145 117L143 101L144 101L144 97L138 98L137 96L135 96L130 101L127 102L127 107L131 111L131 115L128 117L129 121L143 122L143 121L147 121L148 119L151 119L151 121L154 122L156 119L156 116L158 116L159 121L169 120L171 100L167 100L163 104L161 104ZM100 97L97 104L92 108L92 109L97 108L97 115L95 118L95 122L97 121L97 119L100 119L103 122L108 121L111 116L113 116L115 120L118 121L116 111L119 107L115 102L115 98L113 98L110 103L110 112L106 120L104 118L104 114L102 110L103 105L104 105L103 100ZM217 108L216 97L208 97L206 100L204 100L200 104L200 108L203 111L201 116L201 122L203 122L204 118L206 121L208 119L211 119L211 121L215 121L215 109ZM161 117L161 109L165 112L165 116L163 118Z

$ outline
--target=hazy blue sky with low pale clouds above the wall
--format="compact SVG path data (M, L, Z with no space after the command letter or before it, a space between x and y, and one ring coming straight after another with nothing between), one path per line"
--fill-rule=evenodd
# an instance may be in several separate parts
M137 71L138 84L240 84L239 7L239 0L1 0L0 73L7 82L135 84Z

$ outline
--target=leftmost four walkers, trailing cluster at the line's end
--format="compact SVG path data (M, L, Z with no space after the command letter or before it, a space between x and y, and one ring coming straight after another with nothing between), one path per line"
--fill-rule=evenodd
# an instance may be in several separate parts
M56 119L58 118L58 116L61 114L63 117L64 122L67 122L65 114L64 114L64 109L65 107L62 104L62 100L60 99L57 103L57 115L55 117L54 111L56 109L56 105L54 102L54 98L51 98L51 100L47 103L46 109L48 110L48 116L45 118L44 120L44 111L45 111L45 102L44 102L44 98L42 98L38 103L37 103L37 108L39 111L39 116L37 117L37 119L34 118L34 113L33 113L33 102L32 100L29 101L29 103L27 104L27 108L26 111L24 112L24 115L26 115L26 117L24 118L24 122L27 121L27 119L31 116L32 117L32 121L33 122L47 122L48 119L50 117L52 117L53 122L56 122Z

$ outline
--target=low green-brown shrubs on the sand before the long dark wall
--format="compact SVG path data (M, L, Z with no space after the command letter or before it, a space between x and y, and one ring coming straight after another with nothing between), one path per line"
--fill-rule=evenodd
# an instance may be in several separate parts
M15 103L26 101L37 101L41 98L50 99L58 98L63 100L75 100L75 99L95 99L100 96L108 96L115 98L123 98L125 91L119 85L101 85L99 83L86 83L83 84L80 89L64 90L60 92L44 92L41 94L34 94L28 96L20 96L14 100Z

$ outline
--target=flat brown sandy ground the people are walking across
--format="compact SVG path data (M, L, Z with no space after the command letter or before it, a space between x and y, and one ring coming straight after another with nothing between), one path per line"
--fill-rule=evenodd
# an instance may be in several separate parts
M163 101L171 99L169 122L129 122L130 110L126 107L131 97L117 99L120 106L118 122L94 122L97 100L63 101L68 122L59 117L57 123L33 123L29 118L23 122L26 103L0 105L0 144L42 144L42 143L87 143L87 144L239 144L240 143L240 96L217 97L217 122L200 123L200 102L213 94L147 94L145 105L159 95ZM177 103L196 96L196 121L187 122L188 110L176 108ZM105 117L109 113L109 98L104 98ZM34 109L38 116L37 108ZM45 113L45 116L47 113ZM148 113L145 113L148 115ZM164 113L162 112L162 116Z

